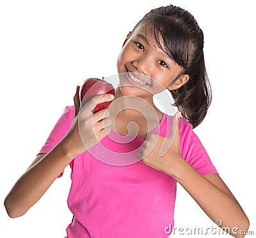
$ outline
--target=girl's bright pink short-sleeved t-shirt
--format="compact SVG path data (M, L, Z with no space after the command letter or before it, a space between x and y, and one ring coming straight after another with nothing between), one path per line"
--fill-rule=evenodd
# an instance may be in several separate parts
M39 154L48 153L67 134L73 118L74 107L67 106ZM172 116L164 114L152 132L170 135L171 122ZM182 157L202 175L218 173L192 125L180 118L179 130ZM136 162L136 154L143 143L141 136L129 143L119 143L113 139L115 136L112 131L100 141L109 152L102 152L95 145L91 152L84 152L70 163L72 184L67 202L74 216L67 227L67 237L170 236L166 227L174 225L176 181L141 161ZM115 164L116 154L127 155L130 151L134 152L129 155L133 163L110 164Z

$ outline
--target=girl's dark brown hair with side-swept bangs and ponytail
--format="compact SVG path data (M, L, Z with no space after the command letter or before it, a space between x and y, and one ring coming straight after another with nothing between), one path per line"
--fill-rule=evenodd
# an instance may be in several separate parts
M189 75L187 83L170 93L173 106L195 128L204 120L212 98L204 61L204 34L191 13L173 5L151 10L134 29L143 23L151 27L157 45L182 67L180 75Z

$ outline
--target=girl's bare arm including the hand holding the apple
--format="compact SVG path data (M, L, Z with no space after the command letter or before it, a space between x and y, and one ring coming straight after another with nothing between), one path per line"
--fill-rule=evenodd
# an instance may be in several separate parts
M93 97L79 111L78 92L79 87L74 97L76 113L67 135L48 154L38 155L6 196L4 206L11 218L24 215L43 196L74 157L104 138L107 134L106 129L110 131L107 109L102 109L92 115L95 105L110 100L109 95ZM103 123L103 119L106 120L106 118L108 118L108 123ZM81 131L86 131L83 133L85 134L83 138L80 135ZM88 134L90 138L86 138ZM92 134L94 136L91 136Z

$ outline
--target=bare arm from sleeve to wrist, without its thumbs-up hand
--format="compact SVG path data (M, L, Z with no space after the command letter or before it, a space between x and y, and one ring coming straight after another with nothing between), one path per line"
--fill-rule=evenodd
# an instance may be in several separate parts
M239 235L239 231L248 230L248 218L220 176L211 173L204 177L182 157L176 157L175 164L173 178L186 189L205 214L214 222L221 220L220 227L230 228L230 235L244 237ZM238 230L232 232L234 227Z

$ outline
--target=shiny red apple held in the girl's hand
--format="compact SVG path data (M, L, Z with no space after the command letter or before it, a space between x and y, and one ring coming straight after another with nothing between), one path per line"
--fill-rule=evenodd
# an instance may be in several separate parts
M115 96L115 88L111 83L104 81L104 77L102 79L97 79L95 77L86 79L80 91L81 107L83 107L88 100L92 99L92 97L106 93L110 93ZM112 101L108 101L97 104L93 109L93 113L96 113L100 109L107 108L111 102Z

